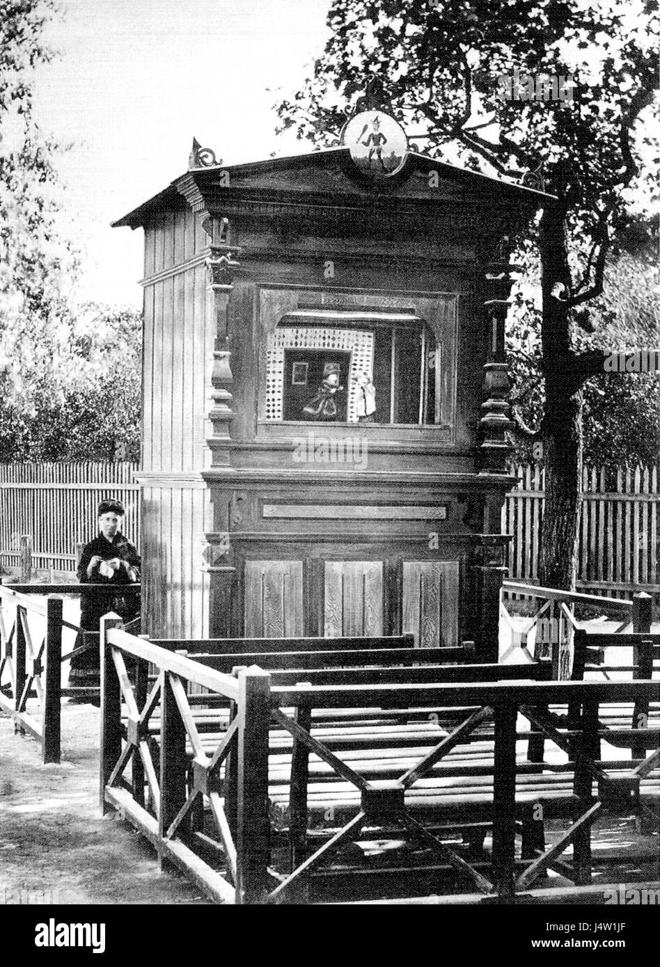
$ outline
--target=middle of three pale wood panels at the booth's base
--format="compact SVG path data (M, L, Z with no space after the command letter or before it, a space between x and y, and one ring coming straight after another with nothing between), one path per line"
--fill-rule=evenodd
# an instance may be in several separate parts
M326 637L382 634L382 561L325 562Z

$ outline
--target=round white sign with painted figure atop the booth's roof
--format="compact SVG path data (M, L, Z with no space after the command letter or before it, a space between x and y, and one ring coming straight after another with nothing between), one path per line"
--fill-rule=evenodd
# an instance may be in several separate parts
M390 178L405 164L405 131L382 111L361 111L352 117L342 132L342 144L360 171L373 178Z

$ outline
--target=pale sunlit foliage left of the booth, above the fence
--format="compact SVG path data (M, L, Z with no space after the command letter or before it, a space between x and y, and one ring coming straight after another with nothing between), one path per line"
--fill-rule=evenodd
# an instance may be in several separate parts
M136 458L139 314L80 306L58 226L63 150L33 111L52 0L0 0L0 459Z

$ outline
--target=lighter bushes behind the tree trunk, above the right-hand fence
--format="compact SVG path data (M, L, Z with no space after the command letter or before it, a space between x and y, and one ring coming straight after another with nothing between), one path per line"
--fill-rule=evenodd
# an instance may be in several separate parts
M605 267L603 294L583 309L576 334L586 349L598 342L620 354L636 347L660 348L660 288L657 225L633 220L615 238ZM539 316L530 282L537 282L538 258L525 266L514 291L507 324L511 401L521 424L538 427L545 406ZM594 335L595 334L595 335ZM589 465L615 468L660 462L660 375L657 372L603 373L585 384L584 456ZM517 434L519 460L533 459L535 435Z

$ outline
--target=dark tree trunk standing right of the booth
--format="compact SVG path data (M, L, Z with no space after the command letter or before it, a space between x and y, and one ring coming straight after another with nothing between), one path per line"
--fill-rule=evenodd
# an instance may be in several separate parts
M572 591L578 551L582 477L583 381L576 378L570 319L568 253L560 206L544 212L540 224L543 318L541 342L546 387L541 425L546 468L539 579L544 587ZM562 283L564 292L557 292Z

